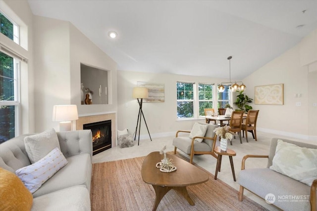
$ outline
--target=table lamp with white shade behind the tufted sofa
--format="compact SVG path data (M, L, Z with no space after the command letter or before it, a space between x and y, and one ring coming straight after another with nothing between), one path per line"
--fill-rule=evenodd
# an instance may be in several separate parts
M59 122L59 131L71 130L71 121L78 120L76 105L54 105L53 118L54 122Z

